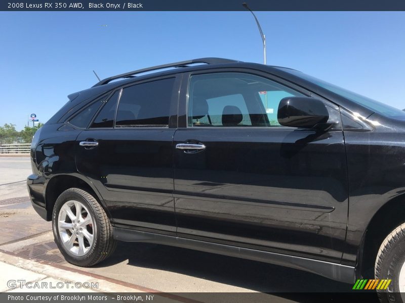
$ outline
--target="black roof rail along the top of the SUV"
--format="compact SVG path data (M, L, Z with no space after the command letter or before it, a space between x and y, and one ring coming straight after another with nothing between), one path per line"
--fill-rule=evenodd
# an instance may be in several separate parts
M115 80L115 79L130 78L130 77L133 77L135 74L154 71L154 70L158 70L158 69L164 69L164 68L169 68L169 67L186 67L188 64L193 64L193 63L219 64L219 63L229 63L229 62L238 62L238 61L231 60L231 59L224 59L224 58L199 58L199 59L192 59L192 60L187 60L187 61L180 61L180 62L175 62L175 63L164 64L164 65L157 65L157 66L143 68L140 70L136 70L136 71L112 76L109 78L105 78L105 79L101 80L100 82L96 83L95 85L93 85L93 87L107 84L108 82Z

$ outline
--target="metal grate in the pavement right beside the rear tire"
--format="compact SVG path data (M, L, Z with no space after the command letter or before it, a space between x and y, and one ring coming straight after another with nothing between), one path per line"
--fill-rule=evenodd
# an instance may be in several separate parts
M66 263L55 242L28 245L15 251L15 253L23 258L37 261L48 261L58 264Z

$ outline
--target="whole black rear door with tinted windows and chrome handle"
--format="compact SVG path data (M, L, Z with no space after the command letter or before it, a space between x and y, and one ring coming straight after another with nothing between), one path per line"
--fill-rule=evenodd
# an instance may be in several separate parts
M77 169L100 191L117 227L176 232L172 140L179 83L171 76L116 89L77 138Z

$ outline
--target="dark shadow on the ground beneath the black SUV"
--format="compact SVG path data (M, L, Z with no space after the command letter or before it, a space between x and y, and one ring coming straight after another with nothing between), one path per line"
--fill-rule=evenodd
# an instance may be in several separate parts
M125 260L128 260L128 266L179 273L271 293L297 302L361 299L358 292L353 294L351 284L336 282L312 273L159 244L118 242L114 254L95 267L109 267ZM361 296L364 295L367 296L368 302L378 302L375 293L363 292ZM337 300L339 297L342 300Z

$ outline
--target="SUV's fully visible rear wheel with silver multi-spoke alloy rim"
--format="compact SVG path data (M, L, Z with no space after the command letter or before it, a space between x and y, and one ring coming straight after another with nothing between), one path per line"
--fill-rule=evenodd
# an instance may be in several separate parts
M52 229L65 260L77 266L100 263L116 247L104 209L83 189L69 188L59 195L52 214Z

